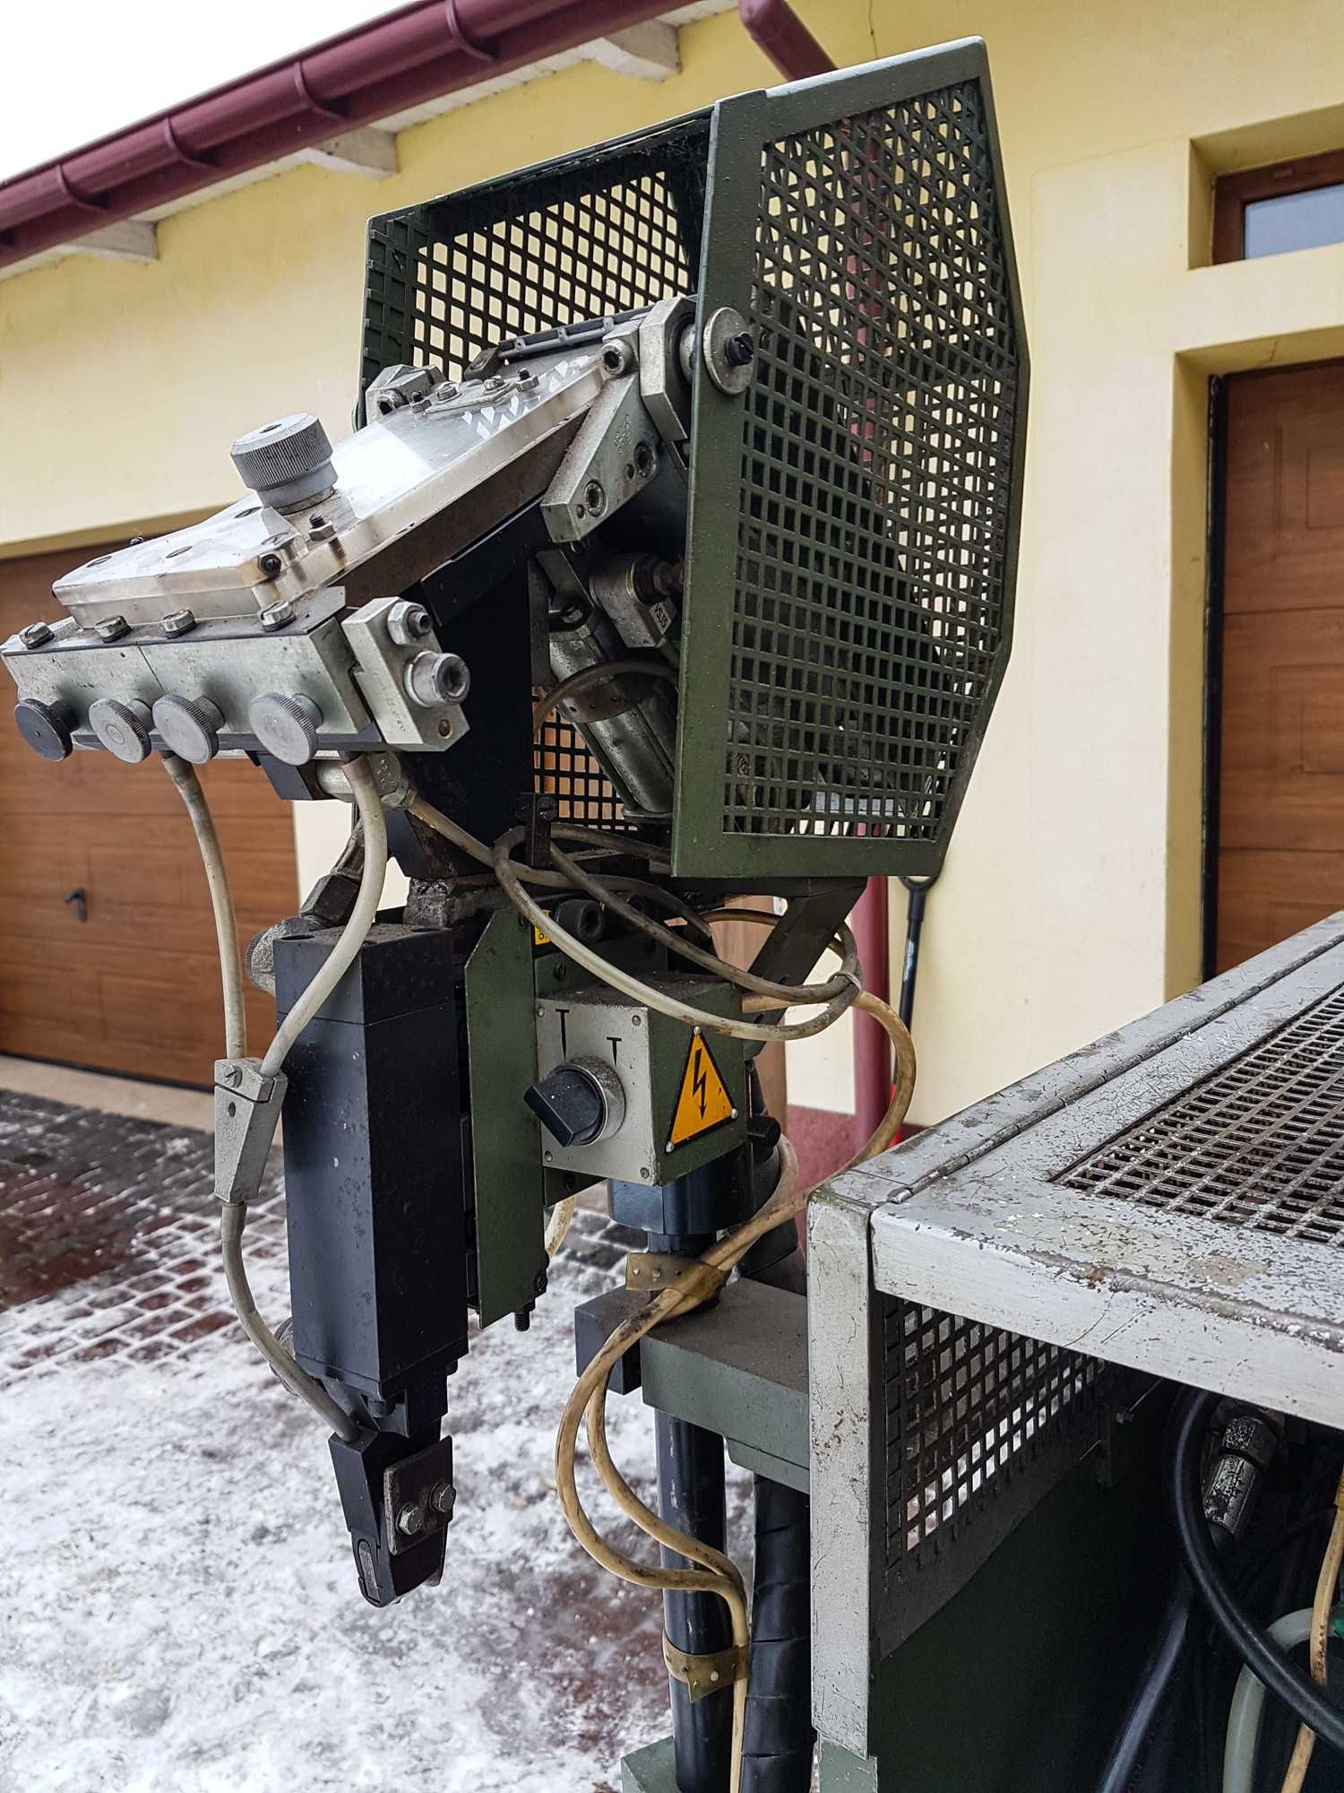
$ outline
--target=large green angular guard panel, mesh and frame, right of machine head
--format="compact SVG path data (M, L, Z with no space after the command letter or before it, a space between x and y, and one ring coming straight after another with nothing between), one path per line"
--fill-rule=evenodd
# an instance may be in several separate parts
M717 111L674 864L934 871L1012 622L1025 344L978 43ZM729 585L731 568L731 585Z

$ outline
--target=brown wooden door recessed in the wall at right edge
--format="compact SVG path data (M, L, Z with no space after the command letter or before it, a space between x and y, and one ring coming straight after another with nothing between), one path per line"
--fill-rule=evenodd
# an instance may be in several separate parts
M1228 382L1219 970L1344 909L1344 364Z

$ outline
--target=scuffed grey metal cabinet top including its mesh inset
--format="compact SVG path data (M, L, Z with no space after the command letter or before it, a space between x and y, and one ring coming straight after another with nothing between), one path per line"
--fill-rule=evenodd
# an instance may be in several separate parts
M1038 1072L1038 1117L962 1162L882 1160L878 1286L1344 1424L1339 918L1168 1009L1188 1024L1115 1076Z

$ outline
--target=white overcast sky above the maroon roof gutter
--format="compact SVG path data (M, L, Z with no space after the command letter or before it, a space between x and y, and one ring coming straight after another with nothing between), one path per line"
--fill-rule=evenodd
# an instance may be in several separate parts
M41 0L5 9L0 179L246 75L385 0Z

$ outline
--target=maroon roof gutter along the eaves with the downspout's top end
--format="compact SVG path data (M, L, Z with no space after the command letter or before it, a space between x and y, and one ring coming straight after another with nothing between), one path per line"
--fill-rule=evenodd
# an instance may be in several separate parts
M0 267L665 11L667 0L419 0L0 181ZM742 0L742 22L788 79L831 66L787 0Z

